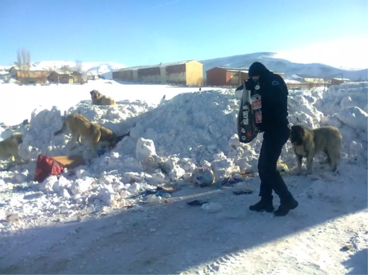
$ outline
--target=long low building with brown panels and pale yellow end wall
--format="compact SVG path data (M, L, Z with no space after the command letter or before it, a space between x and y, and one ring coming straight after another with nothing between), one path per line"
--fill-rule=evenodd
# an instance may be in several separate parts
M113 72L114 80L187 86L203 84L203 64L197 60L135 66Z

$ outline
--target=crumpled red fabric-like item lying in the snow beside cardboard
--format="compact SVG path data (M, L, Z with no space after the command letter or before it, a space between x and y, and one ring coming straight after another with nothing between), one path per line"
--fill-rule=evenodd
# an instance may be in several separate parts
M48 176L58 176L63 173L64 165L49 156L38 155L35 181L42 182Z

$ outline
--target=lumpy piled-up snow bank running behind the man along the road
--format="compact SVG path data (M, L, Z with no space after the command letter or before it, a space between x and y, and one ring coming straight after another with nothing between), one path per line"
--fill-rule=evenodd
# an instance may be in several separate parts
M326 91L291 91L289 121L310 128L327 124L339 127L344 138L344 159L367 161L366 85L351 84L351 92L347 85ZM22 128L25 137L21 156L36 159L39 153L82 154L88 165L64 171L61 177L49 177L40 184L32 182L34 162L22 171L0 172L0 188L8 190L18 184L26 192L39 192L32 199L25 200L23 195L0 199L0 203L7 205L7 211L16 209L24 215L37 215L37 207L46 213L70 215L85 205L121 208L137 203L143 199L136 196L138 192L159 185L189 184L201 167L211 169L217 181L240 170L256 171L262 134L250 144L240 144L236 134L238 109L238 95L225 89L179 94L158 106L142 101L94 106L82 101L68 113L81 113L117 134L130 131L116 148L96 159L91 159L89 144L83 139L82 145L76 144L69 152L66 144L70 134L53 136L62 126L63 114L57 107L50 111L36 109L29 126ZM289 141L281 160L289 167L296 165ZM148 202L162 203L161 197L152 198Z

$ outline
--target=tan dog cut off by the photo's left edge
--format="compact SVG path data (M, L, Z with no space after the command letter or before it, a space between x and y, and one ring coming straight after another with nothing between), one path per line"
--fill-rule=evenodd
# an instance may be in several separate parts
M23 143L22 133L13 133L7 139L0 141L0 158L9 159L11 162L24 163L19 155L19 145Z

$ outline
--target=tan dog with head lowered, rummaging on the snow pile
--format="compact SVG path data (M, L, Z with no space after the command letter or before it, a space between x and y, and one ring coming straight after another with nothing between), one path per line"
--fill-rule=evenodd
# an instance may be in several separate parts
M71 132L70 150L74 148L73 143L76 140L81 144L81 137L89 141L95 155L97 155L97 143L99 141L107 141L110 145L117 143L117 136L113 131L97 123L91 123L86 117L78 113L68 115L64 120L63 127L56 131L54 135L60 135L67 129Z

